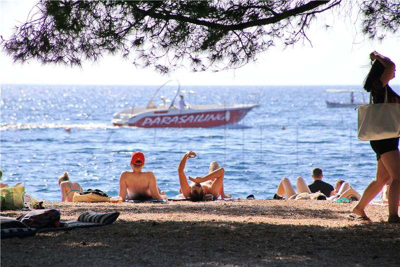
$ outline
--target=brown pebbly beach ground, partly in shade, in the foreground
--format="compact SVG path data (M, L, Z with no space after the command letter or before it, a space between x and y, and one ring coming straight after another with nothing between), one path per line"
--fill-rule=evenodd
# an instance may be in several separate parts
M235 200L167 203L46 203L71 220L88 209L119 211L111 225L1 240L3 266L398 266L400 224L369 205ZM2 211L17 217L23 211Z

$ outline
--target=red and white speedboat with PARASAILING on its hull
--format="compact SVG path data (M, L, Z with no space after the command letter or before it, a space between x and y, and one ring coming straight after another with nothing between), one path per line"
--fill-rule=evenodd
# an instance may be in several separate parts
M194 105L178 109L174 105L174 100L179 94L180 85L169 106L163 97L160 106L153 105L154 96L165 84L155 91L146 107L130 108L115 113L112 124L142 128L216 127L237 123L247 112L259 106L258 104Z

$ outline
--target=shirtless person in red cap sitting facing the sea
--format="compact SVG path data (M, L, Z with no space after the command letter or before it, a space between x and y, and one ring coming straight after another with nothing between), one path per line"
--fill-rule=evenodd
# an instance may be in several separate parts
M157 186L152 171L142 171L144 154L140 151L132 153L130 168L132 171L123 171L119 176L119 196L122 201L142 199L167 199L166 195Z

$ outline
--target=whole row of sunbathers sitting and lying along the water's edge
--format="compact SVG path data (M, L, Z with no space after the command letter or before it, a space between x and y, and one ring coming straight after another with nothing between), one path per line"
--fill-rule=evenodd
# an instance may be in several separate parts
M191 201L201 201L208 199L217 199L220 197L231 198L231 194L225 194L223 190L224 169L221 168L216 161L209 164L208 173L204 176L190 177L187 181L184 168L187 159L196 157L193 151L186 152L178 165L179 177L179 195L181 198L190 199ZM119 193L118 195L125 200L144 200L144 199L167 199L164 191L157 186L155 175L151 171L142 171L145 163L144 154L140 151L132 153L130 159L131 170L123 171L119 177ZM296 189L294 190L290 180L283 177L273 196L275 199L287 200L335 200L349 199L358 200L360 194L351 187L348 182L337 180L334 187L322 181L323 173L320 168L314 168L311 175L313 182L306 184L302 177L296 179ZM58 178L58 185L61 190L61 201L72 201L73 192L83 192L83 188L78 182L71 181L68 173L65 172ZM381 192L382 202L387 203L387 186L384 186Z

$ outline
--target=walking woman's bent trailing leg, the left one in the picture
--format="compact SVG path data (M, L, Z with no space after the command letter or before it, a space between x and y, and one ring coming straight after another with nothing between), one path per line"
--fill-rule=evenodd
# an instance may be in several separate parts
M379 193L383 185L390 181L390 174L379 158L376 167L376 178L368 184L358 203L353 207L352 212L358 216L366 216L365 207Z

